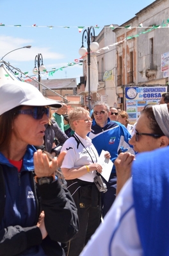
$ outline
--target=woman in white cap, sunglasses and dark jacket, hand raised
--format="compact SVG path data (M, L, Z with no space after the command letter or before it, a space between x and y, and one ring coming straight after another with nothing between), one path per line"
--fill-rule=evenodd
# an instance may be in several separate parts
M65 152L49 162L31 146L43 144L49 105L61 106L33 85L0 87L0 255L65 255L57 241L78 230L74 201L54 175Z

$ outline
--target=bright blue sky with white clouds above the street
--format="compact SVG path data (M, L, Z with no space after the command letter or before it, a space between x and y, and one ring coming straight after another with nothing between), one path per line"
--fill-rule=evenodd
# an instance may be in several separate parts
M59 69L74 62L81 56L83 31L79 33L77 26L99 26L95 29L98 35L104 26L119 26L135 13L140 12L152 0L0 0L0 57L13 49L31 45L31 49L20 49L7 55L4 60L10 62L22 72L33 75L35 56L41 53L47 71ZM36 27L33 27L36 24ZM21 25L16 27L14 25ZM54 26L50 29L47 26ZM70 28L63 28L68 26ZM83 29L85 30L85 28ZM86 45L85 45L86 46ZM81 65L73 65L56 71L49 79L77 78L83 75ZM43 76L42 79L46 79Z

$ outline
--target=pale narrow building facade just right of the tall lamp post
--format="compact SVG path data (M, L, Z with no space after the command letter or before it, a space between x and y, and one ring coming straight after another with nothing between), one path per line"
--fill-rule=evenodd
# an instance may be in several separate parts
M108 103L109 106L117 107L116 90L116 47L109 45L115 44L115 33L110 26L104 26L101 33L96 37L99 43L99 53L97 52L97 66L99 74L99 86L97 99Z

